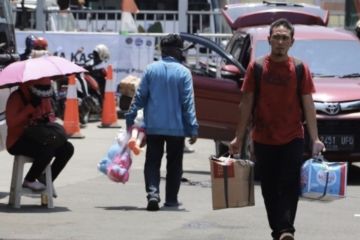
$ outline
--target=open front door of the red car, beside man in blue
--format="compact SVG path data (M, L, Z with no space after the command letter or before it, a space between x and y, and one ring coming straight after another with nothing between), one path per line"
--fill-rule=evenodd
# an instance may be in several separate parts
M215 42L197 35L181 33L185 44L192 44L201 56L198 64L190 63L193 75L199 137L231 140L235 134L240 102L240 77L244 67ZM201 50L200 50L201 49ZM205 56L206 55L206 56ZM194 56L187 56L194 59Z

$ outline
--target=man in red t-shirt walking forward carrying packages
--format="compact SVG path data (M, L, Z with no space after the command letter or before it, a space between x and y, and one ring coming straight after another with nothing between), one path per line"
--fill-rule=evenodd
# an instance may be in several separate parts
M294 239L294 221L300 193L300 168L304 149L302 112L312 140L313 155L325 150L319 140L312 93L315 92L306 64L301 82L301 101L297 91L294 59L288 50L294 43L294 27L286 19L272 23L268 37L271 52L265 57L253 112L252 139L258 165L261 191L272 237ZM236 137L229 152L240 153L254 105L254 62L248 66ZM301 107L302 105L302 107Z

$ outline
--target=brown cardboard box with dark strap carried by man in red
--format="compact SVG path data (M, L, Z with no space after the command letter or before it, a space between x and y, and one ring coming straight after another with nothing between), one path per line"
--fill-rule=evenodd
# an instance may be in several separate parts
M213 209L254 206L254 163L210 158Z

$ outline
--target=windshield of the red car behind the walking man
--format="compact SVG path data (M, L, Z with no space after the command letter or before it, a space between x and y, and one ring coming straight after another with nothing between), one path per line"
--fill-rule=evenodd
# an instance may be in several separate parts
M255 57L270 52L267 41L258 41ZM314 76L360 74L360 42L348 40L295 40L289 55L309 65Z

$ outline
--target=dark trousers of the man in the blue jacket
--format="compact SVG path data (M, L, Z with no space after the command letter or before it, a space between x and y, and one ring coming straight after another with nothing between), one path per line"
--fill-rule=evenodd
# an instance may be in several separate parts
M156 198L160 201L160 167L166 143L166 187L165 202L177 203L182 177L184 153L184 137L147 135L145 159L145 188L147 199Z

